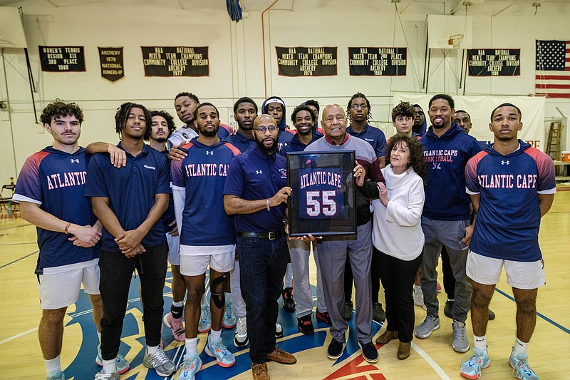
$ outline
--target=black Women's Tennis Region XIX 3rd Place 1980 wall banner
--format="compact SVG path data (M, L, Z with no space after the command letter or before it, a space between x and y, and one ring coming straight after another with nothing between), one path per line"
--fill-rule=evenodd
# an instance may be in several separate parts
M41 71L85 71L83 46L38 46Z

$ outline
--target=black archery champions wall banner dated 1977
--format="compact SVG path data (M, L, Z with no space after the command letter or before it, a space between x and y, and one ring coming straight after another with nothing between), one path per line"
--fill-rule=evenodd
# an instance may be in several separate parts
M145 76L209 76L208 46L141 46Z

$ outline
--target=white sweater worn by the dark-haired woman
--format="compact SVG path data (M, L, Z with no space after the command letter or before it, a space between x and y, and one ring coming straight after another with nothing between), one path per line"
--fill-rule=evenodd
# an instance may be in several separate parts
M388 207L380 200L374 207L372 242L386 255L410 261L423 250L422 210L425 200L423 181L413 168L394 174L391 165L382 169L388 189Z

